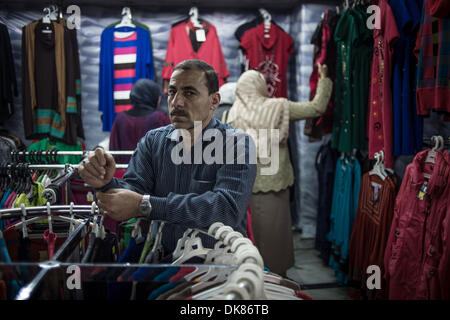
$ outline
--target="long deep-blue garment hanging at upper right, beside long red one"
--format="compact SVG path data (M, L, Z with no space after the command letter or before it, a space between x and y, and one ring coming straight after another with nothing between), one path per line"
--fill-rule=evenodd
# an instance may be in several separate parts
M389 2L399 31L393 53L393 135L394 156L422 150L423 118L417 115L416 65L413 54L420 26L421 7L417 1Z

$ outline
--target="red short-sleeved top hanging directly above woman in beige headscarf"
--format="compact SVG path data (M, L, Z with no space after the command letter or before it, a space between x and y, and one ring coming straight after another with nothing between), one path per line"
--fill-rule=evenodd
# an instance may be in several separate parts
M248 60L248 69L257 69L266 77L269 97L287 98L287 67L294 53L294 40L276 24L271 23L265 37L264 23L247 30L241 47Z

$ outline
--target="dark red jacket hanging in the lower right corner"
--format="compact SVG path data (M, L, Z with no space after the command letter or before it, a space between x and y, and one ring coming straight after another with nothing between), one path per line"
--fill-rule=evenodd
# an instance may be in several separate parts
M450 298L450 156L437 153L432 164L427 154L408 165L396 198L384 257L391 300Z

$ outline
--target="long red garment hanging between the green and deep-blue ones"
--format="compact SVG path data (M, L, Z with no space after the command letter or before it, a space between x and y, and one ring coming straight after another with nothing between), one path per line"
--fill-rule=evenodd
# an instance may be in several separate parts
M387 168L393 168L392 139L392 54L399 33L391 7L386 0L380 0L381 29L373 33L374 48L369 100L369 157L384 151Z

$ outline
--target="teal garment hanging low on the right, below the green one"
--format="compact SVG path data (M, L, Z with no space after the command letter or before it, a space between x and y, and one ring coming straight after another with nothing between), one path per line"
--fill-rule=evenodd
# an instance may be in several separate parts
M349 242L358 209L361 168L357 159L339 158L334 177L330 214L331 242L329 266L335 271L338 283L347 284Z

